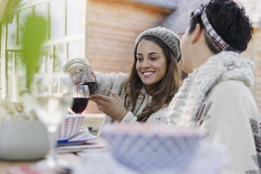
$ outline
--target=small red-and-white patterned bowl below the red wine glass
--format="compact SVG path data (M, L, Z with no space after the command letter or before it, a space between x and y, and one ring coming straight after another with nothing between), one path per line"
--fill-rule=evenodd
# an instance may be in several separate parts
M69 140L80 131L85 115L67 114L65 120L58 127L58 140Z

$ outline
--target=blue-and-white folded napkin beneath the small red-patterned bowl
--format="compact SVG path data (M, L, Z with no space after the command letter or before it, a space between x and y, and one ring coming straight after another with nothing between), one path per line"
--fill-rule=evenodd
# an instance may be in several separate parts
M58 140L58 147L67 145L83 145L87 140L93 140L95 138L96 136L91 134L88 128L82 128L73 138L70 138L69 140Z

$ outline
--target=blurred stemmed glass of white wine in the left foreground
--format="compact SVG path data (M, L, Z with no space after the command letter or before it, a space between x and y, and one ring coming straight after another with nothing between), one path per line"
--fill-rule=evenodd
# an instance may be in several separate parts
M72 81L66 73L36 73L33 76L31 93L36 100L35 112L48 129L50 145L47 158L37 164L41 168L61 166L55 152L57 129L72 105L71 91Z

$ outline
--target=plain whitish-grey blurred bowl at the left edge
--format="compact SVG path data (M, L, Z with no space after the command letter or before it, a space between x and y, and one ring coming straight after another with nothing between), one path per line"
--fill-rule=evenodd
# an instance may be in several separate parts
M0 159L41 159L48 154L48 150L48 132L41 121L0 121Z

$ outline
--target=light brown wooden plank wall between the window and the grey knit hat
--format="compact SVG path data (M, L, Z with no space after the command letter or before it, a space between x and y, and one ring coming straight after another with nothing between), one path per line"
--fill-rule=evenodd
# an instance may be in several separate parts
M127 0L88 0L86 58L93 70L128 72L133 65L135 39L170 13L166 8ZM85 113L101 113L89 102Z

